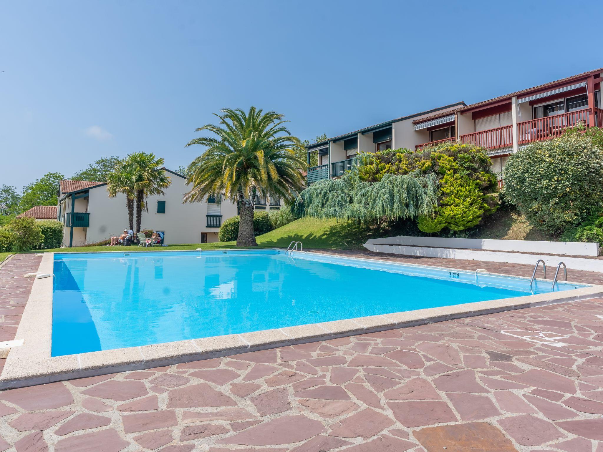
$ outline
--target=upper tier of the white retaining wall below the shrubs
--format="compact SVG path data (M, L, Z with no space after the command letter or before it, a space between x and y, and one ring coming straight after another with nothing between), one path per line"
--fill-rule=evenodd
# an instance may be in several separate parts
M569 254L570 256L599 256L599 243L541 242L538 240L444 239L443 237L397 236L370 239L372 245L437 246L469 250L518 251L523 253Z

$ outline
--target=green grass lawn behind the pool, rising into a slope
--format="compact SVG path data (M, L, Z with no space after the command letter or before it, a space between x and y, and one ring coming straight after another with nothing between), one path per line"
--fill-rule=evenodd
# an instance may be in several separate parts
M305 218L257 236L257 245L262 248L286 248L292 240L299 240L308 250L349 250L359 248L370 238L370 233L350 222ZM219 250L235 248L235 242L192 243L191 245L168 245L144 248L131 246L130 251L178 251L178 250ZM31 251L31 253L55 252L73 253L86 251L122 251L123 246L77 246L55 248L54 250ZM1 254L0 254L1 256Z

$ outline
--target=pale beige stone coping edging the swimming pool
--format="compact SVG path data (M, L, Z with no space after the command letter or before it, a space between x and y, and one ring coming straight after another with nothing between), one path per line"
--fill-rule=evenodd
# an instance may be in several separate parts
M264 249L268 250L270 248ZM122 251L99 251L97 253L112 252L122 253ZM194 253L196 250L191 250L191 252ZM296 253L318 254L309 251L296 251ZM324 256L324 253L320 253L320 256ZM329 256L341 257L330 253ZM357 257L345 257L345 259L392 264L392 262L379 259ZM54 253L44 253L37 272L52 274L53 262ZM467 270L431 265L408 263L403 265L468 272ZM484 273L525 278L493 272ZM583 283L574 284L578 286L584 285ZM10 349L0 377L0 389L21 388L72 378L93 377L96 375L112 374L114 372L155 368L182 362L266 350L268 348L324 341L337 337L352 336L354 334L374 333L394 328L411 327L451 319L603 296L603 286L590 284L588 287L563 290L561 292L525 295L523 297L504 298L501 300L478 301L453 306L432 307L317 324L283 327L273 330L252 331L249 333L228 334L225 336L187 339L185 341L164 342L140 347L117 348L52 357L52 286L52 277L34 280L30 297L25 305L25 310L15 336L16 341L23 340L23 345Z

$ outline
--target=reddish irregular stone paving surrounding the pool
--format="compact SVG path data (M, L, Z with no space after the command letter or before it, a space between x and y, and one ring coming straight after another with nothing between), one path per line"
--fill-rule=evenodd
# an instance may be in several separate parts
M39 262L0 268L0 340ZM603 452L602 344L594 299L12 389L0 452Z

